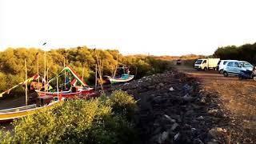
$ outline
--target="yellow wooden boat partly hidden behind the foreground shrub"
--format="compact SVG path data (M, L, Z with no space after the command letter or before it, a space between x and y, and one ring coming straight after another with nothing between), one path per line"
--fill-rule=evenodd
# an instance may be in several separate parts
M50 98L51 99L51 98ZM63 101L65 98L54 98L53 101L49 102L49 98L38 98L38 104L32 104L28 106L20 106L5 110L0 110L0 122L10 122L17 118L22 118L28 114L33 114L37 110L53 106L54 104ZM42 103L46 102L46 103Z

